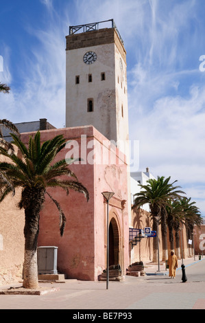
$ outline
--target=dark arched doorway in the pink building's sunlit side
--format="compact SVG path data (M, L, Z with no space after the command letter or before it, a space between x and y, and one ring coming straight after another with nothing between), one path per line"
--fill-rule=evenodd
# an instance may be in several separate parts
M112 218L109 225L109 265L119 263L119 230L116 220Z

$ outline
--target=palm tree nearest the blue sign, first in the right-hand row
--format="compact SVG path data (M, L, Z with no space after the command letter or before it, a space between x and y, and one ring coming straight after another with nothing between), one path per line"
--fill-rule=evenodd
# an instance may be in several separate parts
M140 208L145 203L149 203L149 208L151 211L151 216L153 219L152 230L157 232L158 236L158 221L156 216L161 216L162 208L169 205L169 201L180 198L180 194L184 194L182 190L178 190L180 186L173 186L176 181L169 183L171 177L165 179L165 177L159 177L157 179L149 179L147 185L140 185L141 192L136 193L136 199L134 200L134 205ZM166 234L163 239L167 239ZM157 261L157 239L153 242L153 261ZM165 243L164 243L165 245ZM163 251L165 254L165 250Z

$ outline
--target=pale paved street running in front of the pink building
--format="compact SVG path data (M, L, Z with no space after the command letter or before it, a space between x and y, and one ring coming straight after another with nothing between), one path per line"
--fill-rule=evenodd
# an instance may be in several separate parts
M60 290L43 296L0 295L0 309L205 309L205 258L184 260L187 282L182 282L180 265L174 280L156 275L156 265L148 266L150 276L126 276L125 282L109 282L108 290L106 282L41 283ZM160 274L168 271L160 267Z

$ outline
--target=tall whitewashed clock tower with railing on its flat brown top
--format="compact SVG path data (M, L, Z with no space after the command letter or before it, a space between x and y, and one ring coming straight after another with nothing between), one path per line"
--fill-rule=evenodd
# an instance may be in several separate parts
M113 19L72 26L66 38L66 126L93 125L129 159L126 52Z

